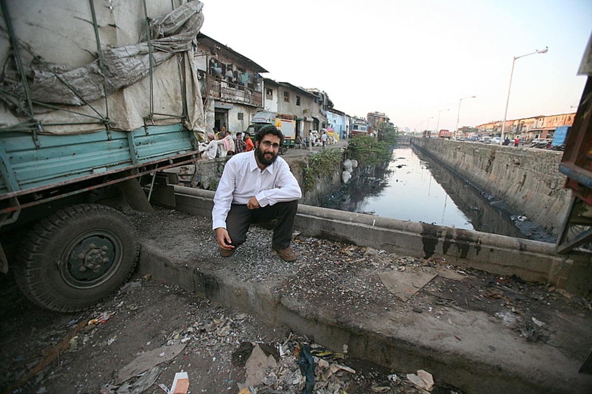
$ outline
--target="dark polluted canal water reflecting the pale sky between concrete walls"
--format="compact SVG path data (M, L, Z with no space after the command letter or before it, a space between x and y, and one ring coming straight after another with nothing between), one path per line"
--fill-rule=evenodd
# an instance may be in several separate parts
M328 196L325 208L554 243L540 225L511 212L503 201L458 177L411 147L396 148L391 162L363 173Z

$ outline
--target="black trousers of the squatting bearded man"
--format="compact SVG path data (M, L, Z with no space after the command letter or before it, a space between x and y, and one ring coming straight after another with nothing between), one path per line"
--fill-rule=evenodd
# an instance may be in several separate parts
M294 218L298 211L298 200L278 202L257 209L249 209L246 205L232 204L226 217L226 230L230 235L233 246L237 247L247 239L247 231L251 224L270 222L274 219L274 236L271 246L275 249L285 249L290 246L292 232L294 232Z

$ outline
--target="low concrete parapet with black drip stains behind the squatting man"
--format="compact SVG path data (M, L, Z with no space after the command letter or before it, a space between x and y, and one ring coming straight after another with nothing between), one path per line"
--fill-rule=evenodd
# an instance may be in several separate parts
M214 192L175 186L176 209L211 217ZM307 237L343 241L499 275L516 274L529 282L548 283L571 293L592 293L591 257L555 254L555 245L487 232L299 205L296 230ZM575 266L575 268L574 268Z

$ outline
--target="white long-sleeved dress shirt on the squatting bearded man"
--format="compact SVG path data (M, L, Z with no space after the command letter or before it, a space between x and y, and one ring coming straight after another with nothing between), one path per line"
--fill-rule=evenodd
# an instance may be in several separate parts
M302 192L288 163L281 157L261 170L255 151L235 154L226 162L214 195L212 228L226 228L230 205L246 205L253 196L260 206L267 206L300 199Z

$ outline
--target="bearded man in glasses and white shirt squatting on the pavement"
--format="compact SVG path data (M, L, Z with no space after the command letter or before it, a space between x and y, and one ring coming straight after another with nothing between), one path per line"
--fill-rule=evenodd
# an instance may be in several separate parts
M255 151L234 155L214 195L212 229L223 257L246 241L250 224L277 219L271 241L282 260L293 261L289 247L302 192L288 163L278 157L284 135L266 125L255 136Z

